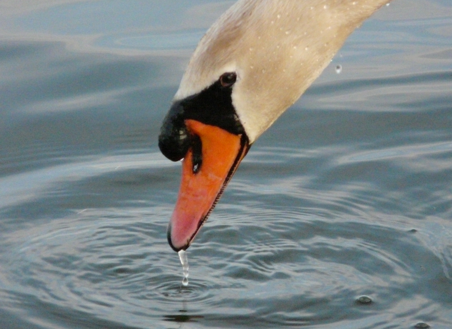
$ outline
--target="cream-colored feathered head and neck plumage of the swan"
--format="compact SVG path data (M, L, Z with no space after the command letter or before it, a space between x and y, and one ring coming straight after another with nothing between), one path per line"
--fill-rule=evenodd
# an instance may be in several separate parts
M254 142L387 0L239 0L207 31L175 99L235 71L233 103Z

